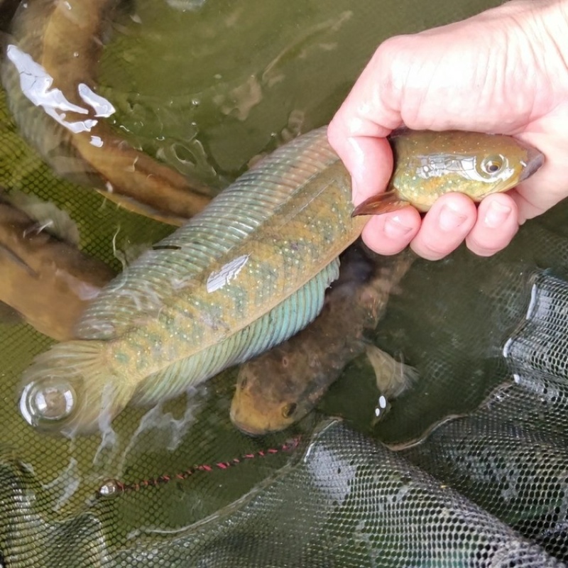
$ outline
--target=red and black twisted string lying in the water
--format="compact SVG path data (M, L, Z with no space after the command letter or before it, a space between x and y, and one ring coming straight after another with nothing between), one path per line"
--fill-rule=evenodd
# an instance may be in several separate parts
M295 437L285 444L282 444L280 447L275 448L268 448L268 449L261 449L257 452L251 452L250 454L244 454L244 456L236 457L231 459L231 461L218 461L216 464L202 464L199 466L190 467L190 469L186 469L185 471L180 471L178 474L164 474L158 477L153 477L151 479L143 479L142 481L137 481L133 484L124 484L122 481L118 479L107 479L103 482L103 484L99 487L97 491L97 496L100 498L113 498L128 491L138 491L144 487L158 487L163 484L167 484L170 481L180 481L184 479L188 479L193 474L197 473L197 471L214 471L215 469L229 469L229 467L236 466L241 464L243 461L249 461L256 457L266 457L272 454L280 454L282 452L290 452L297 447L297 444L300 443L300 437Z

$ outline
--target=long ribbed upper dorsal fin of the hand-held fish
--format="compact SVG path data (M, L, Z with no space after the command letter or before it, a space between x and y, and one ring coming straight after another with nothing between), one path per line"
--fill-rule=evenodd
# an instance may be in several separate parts
M175 297L196 278L206 279L212 266L238 261L242 257L235 251L246 249L247 239L258 241L259 231L290 196L338 161L325 128L278 148L112 280L85 312L79 337L117 337L137 318L158 313L166 297Z

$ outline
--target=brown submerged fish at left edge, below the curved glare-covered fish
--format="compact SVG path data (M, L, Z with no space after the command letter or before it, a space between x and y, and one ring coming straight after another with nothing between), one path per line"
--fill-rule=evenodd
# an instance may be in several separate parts
M54 205L0 194L0 302L60 341L74 337L80 315L114 277L78 249L78 236Z

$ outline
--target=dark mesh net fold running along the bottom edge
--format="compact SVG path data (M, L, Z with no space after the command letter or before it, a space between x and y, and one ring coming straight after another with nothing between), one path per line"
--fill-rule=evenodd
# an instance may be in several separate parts
M118 548L109 542L116 501L50 522L37 513L41 489L29 472L9 463L1 471L4 531L19 537L6 557L14 566L559 565L399 454L332 420L239 501L178 531L141 531Z

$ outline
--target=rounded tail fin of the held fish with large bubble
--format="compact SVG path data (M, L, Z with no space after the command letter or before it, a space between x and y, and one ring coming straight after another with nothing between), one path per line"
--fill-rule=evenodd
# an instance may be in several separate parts
M135 385L112 371L107 343L64 342L37 356L23 373L23 418L40 430L68 437L108 430Z

